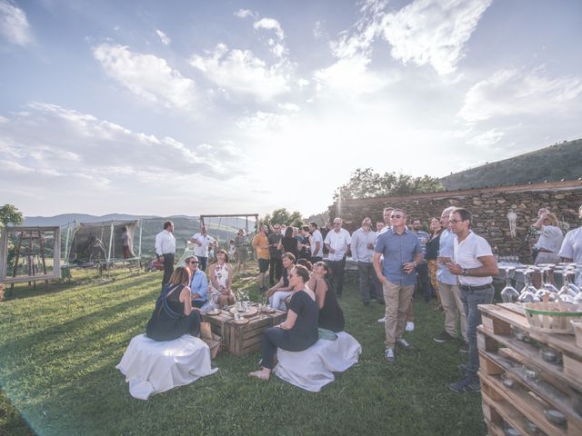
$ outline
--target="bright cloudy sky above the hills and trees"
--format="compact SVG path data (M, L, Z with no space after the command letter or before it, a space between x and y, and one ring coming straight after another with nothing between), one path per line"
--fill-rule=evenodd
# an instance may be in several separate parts
M0 203L308 216L582 137L579 0L0 0Z

